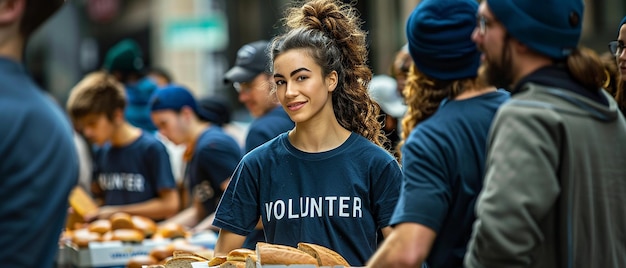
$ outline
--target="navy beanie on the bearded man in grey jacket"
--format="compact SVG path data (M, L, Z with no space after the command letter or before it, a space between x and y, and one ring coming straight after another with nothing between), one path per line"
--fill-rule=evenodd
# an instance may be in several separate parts
M512 37L536 52L564 59L578 46L583 0L487 0L487 5Z

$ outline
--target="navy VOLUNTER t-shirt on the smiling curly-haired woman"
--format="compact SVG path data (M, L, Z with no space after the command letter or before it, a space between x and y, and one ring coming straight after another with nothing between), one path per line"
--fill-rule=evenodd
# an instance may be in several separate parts
M395 158L358 134L306 153L284 133L243 157L213 224L245 236L261 217L269 243L315 243L362 266L389 224L401 179Z

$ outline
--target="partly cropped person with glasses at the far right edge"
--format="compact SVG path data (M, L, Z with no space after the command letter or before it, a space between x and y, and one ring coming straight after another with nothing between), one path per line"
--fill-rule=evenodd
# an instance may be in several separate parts
M615 88L615 100L622 112L626 112L626 17L617 26L617 40L609 42L609 51L617 61L617 86Z

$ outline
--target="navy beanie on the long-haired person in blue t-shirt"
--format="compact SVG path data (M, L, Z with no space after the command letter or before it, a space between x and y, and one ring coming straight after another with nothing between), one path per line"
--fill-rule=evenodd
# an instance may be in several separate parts
M440 80L476 77L480 52L472 42L476 0L423 0L406 25L409 53L415 66Z

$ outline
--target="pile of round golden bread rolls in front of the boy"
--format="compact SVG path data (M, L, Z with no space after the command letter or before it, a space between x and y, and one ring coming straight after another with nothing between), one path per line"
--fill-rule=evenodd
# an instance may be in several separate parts
M165 224L157 227L147 217L115 213L109 219L100 219L80 226L78 229L67 229L62 239L71 241L77 247L87 247L89 242L115 241L141 243L145 238L177 238L186 237L188 233L180 224Z

